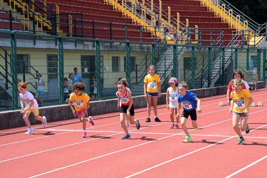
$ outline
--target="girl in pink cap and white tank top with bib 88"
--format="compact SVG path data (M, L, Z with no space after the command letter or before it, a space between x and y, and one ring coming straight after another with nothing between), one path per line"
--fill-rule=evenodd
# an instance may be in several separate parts
M175 110L175 116L177 115L177 105L178 105L178 84L177 84L177 79L175 77L171 77L169 80L169 83L171 87L167 89L167 94L166 94L166 104L167 104L167 109L170 110L170 119L171 119L171 125L170 128L179 128L179 117L176 117L176 124L174 124L174 110Z

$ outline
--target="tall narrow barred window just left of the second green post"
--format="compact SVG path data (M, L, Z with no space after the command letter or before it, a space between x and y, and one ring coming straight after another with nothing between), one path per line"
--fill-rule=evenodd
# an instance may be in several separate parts
M47 73L48 80L58 79L58 55L57 54L47 54Z

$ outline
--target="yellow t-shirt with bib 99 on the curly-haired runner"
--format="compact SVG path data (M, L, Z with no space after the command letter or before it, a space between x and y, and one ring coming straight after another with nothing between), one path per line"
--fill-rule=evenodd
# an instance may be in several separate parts
M90 100L90 96L86 93L82 93L81 96L75 95L75 93L71 93L69 95L69 101L73 102L76 111L80 111L83 108L86 108L88 101Z

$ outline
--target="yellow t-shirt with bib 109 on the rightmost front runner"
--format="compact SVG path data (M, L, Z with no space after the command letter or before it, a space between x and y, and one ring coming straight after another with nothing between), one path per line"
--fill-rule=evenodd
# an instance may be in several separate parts
M236 93L235 91L232 91L231 98L233 99L233 111L238 113L243 113L246 109L246 106L249 103L249 99L251 95L249 90L247 89L241 89L239 93ZM248 109L248 111L250 108Z

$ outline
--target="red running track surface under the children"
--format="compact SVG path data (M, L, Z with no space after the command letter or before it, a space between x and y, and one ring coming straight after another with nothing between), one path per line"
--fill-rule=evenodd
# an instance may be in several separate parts
M136 109L141 128L128 127L128 140L120 139L118 112L93 116L85 139L78 119L34 125L30 135L26 127L1 130L1 177L266 177L267 90L251 94L264 106L251 107L243 145L236 145L229 106L218 107L226 97L213 96L201 98L198 130L187 121L189 143L181 128L169 128L165 105L158 106L161 123L145 123L146 108Z

